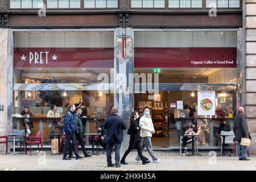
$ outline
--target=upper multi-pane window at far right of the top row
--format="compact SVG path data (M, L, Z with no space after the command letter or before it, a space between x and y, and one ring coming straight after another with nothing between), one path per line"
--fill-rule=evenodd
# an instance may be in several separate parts
M239 0L207 0L206 1L206 7L219 7L219 8L225 8L225 7L240 7L240 1Z

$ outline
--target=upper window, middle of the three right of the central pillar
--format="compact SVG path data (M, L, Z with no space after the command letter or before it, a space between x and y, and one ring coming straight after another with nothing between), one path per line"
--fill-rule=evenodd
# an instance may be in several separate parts
M202 0L169 0L170 8L202 7Z

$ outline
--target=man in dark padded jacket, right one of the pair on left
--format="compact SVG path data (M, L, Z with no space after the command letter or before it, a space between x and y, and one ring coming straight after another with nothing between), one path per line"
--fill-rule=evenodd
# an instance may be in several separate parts
M88 152L85 150L85 145L84 145L84 137L82 133L82 109L81 108L76 108L76 113L74 114L74 118L76 121L76 139L79 140L79 143L82 148L82 152L84 153L84 157L90 157L92 156L91 154L88 154ZM72 155L72 149L71 149L71 144L69 144L69 158L76 158L75 156Z

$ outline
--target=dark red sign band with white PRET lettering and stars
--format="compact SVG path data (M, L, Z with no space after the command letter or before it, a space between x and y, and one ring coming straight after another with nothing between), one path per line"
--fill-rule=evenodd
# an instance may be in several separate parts
M14 48L14 68L113 68L114 48Z

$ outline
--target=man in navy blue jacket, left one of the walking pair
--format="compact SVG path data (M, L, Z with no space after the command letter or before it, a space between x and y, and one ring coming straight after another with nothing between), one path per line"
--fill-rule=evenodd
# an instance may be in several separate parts
M64 116L64 132L66 135L65 138L65 145L64 145L64 154L63 154L63 160L71 160L70 157L68 157L68 151L69 151L69 143L72 142L71 146L72 149L75 151L76 159L81 159L82 157L78 154L77 147L76 147L76 121L74 118L76 106L73 104L68 105L68 111L65 113Z

